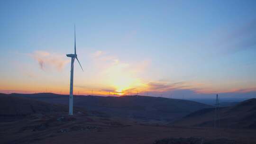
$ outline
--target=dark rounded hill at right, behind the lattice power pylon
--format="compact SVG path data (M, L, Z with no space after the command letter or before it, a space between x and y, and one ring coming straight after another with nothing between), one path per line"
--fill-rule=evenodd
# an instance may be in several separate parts
M219 109L217 124L229 128L256 128L256 99L248 99L232 107ZM214 126L215 108L205 108L175 121L175 126Z

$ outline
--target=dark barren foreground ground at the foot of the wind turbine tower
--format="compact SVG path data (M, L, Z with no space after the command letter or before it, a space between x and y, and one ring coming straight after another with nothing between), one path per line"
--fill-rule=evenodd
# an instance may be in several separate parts
M256 144L256 130L145 125L84 114L1 117L0 127L0 144L154 144L157 139L191 136Z

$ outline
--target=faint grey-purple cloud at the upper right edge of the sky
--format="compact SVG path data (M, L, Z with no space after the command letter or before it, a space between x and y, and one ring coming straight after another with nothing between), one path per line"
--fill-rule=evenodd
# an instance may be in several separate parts
M211 37L209 39L210 41L203 45L203 47L210 46L214 51L217 50L217 54L233 54L255 48L256 19L238 27L222 28L219 32L215 32L212 35L214 35L214 37Z

